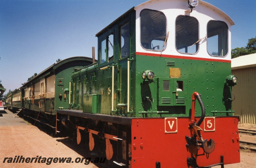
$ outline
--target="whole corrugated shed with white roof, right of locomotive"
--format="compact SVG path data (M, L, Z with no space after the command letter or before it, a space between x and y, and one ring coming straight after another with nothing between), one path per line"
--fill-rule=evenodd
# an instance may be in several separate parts
M234 115L240 116L240 123L256 124L256 53L233 58L231 67L232 74L239 80L233 88Z

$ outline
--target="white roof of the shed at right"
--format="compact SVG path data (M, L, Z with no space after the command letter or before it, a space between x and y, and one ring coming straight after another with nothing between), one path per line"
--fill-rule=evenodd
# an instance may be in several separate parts
M256 53L243 55L231 59L231 68L232 69L242 69L256 66Z

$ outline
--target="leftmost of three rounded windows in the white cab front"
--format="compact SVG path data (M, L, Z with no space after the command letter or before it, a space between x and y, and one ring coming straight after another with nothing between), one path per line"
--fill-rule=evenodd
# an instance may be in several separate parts
M145 9L140 12L140 42L149 50L161 51L166 47L166 18L162 12ZM164 46L164 47L163 47Z

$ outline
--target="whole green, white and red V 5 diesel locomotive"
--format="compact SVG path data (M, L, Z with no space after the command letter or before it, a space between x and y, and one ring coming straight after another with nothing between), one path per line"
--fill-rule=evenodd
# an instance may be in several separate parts
M104 143L107 159L124 167L240 162L232 25L201 0L133 7L96 34L98 62L73 72L56 132L73 129L91 151Z

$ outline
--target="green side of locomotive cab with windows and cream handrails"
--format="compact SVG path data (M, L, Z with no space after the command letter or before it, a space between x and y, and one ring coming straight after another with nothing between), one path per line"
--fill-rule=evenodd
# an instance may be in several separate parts
M96 34L99 68L95 71L100 81L95 85L95 93L100 95L99 106L107 107L98 108L98 113L131 115L130 83L135 67L132 62L135 56L134 18L134 10L131 9Z

